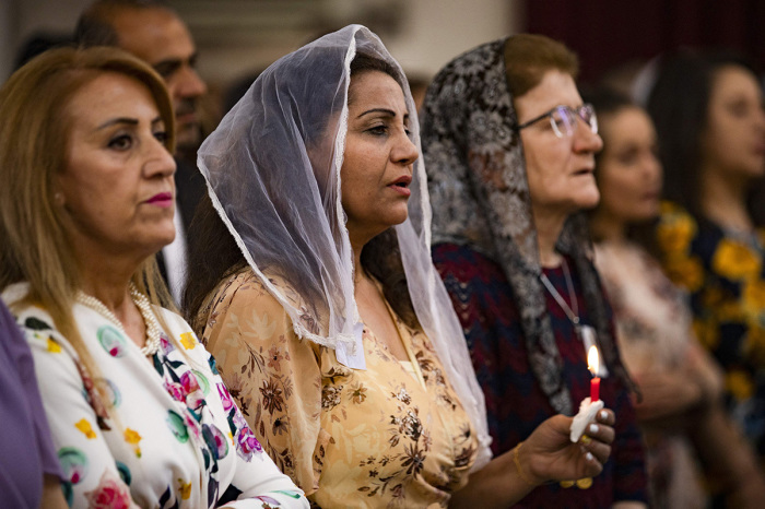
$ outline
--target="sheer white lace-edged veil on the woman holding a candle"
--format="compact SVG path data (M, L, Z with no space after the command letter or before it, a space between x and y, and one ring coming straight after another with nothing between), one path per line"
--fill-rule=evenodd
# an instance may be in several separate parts
M353 256L340 202L350 64L356 52L397 69L420 150L407 79L379 38L350 25L269 67L199 150L213 205L247 262L284 306L295 333L356 352ZM422 153L422 151L420 151ZM422 157L414 163L409 218L395 227L417 319L479 435L475 467L491 458L485 404L462 329L431 261L431 206ZM284 295L278 274L308 307ZM363 350L361 351L363 354Z

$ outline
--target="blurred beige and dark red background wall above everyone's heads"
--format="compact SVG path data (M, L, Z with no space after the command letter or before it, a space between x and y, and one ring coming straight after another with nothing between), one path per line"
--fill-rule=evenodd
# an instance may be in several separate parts
M0 82L34 36L70 35L91 0L0 0ZM412 76L427 80L460 52L516 32L558 38L582 79L629 76L678 46L727 46L765 63L765 0L169 0L200 50L211 105L233 81L349 23L375 31ZM212 111L215 116L215 111Z

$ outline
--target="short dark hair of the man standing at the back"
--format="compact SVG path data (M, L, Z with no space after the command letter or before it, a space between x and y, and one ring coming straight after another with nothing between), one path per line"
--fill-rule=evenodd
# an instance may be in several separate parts
M172 11L163 0L96 0L85 9L74 28L74 43L84 48L119 46L119 35L113 20L125 10L164 9Z

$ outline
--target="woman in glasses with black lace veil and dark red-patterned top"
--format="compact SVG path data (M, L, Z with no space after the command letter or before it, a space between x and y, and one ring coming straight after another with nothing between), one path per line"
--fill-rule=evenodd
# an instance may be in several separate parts
M644 450L610 308L580 211L599 200L602 149L575 78L577 58L517 35L444 68L425 97L422 146L433 257L457 309L489 414L495 454L589 394L616 413L612 460L595 478L537 487L525 507L644 507Z

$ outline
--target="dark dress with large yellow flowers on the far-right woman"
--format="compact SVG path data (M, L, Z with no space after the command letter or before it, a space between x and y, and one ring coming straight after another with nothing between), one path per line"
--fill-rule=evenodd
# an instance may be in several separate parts
M669 277L691 294L694 330L720 363L731 416L765 459L765 230L723 230L673 203L657 226Z

